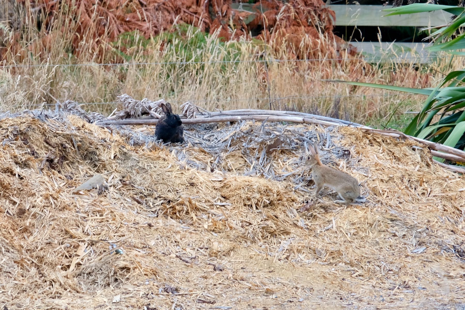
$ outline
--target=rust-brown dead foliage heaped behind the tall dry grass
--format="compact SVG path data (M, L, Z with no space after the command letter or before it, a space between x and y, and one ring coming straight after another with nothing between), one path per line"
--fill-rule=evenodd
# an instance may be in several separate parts
M344 41L332 33L335 13L325 7L322 0L291 0L286 4L277 0L261 1L263 14L257 2L256 17L248 25L245 19L251 13L233 9L232 0L31 0L30 6L29 1L16 1L25 5L29 10L27 14L34 16L46 29L29 47L34 55L46 55L53 47L56 41L53 36L60 32L50 29L66 31L66 26L53 25L60 22L56 18L60 10L66 9L69 16L75 16L69 21L70 25L75 23L70 39L73 54L79 57L91 50L100 61L111 49L107 43L116 41L121 33L138 30L149 38L179 22L197 26L210 34L218 33L223 40L250 39L251 30L263 29L259 38L278 49L284 46L292 58L297 59L321 55L339 57L340 51L347 48ZM348 52L355 54L353 46Z

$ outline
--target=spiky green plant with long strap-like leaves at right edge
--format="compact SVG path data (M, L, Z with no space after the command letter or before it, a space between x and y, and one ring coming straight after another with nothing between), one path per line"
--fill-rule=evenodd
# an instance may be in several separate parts
M385 16L414 14L443 10L455 15L450 23L440 27L424 28L432 30L428 38L433 40L432 46L425 49L430 52L445 52L453 55L465 55L459 51L465 48L465 33L457 34L460 27L465 26L465 8L435 4L415 3L404 7L393 7L383 11ZM454 38L453 38L454 37ZM332 80L336 82L336 80ZM337 81L341 83L369 86L400 92L410 92L427 96L422 110L412 119L405 129L405 134L442 143L460 150L465 148L465 69L448 73L435 88L409 88L388 86L374 83ZM444 159L435 158L440 161ZM459 163L457 163L459 165Z

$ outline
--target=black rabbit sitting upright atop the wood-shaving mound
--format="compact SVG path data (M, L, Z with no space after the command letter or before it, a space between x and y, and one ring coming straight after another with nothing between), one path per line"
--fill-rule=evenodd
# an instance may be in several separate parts
M163 140L163 143L182 143L184 142L184 130L182 129L182 121L178 114L173 114L169 103L161 104L161 109L165 113L158 120L155 126L155 137Z

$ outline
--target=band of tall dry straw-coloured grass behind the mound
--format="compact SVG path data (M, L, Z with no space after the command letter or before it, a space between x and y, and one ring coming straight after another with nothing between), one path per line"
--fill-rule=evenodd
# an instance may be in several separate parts
M1 111L40 108L54 105L55 100L72 99L93 103L84 106L89 111L109 113L118 106L116 96L127 93L135 99L164 98L175 110L185 101L208 110L267 109L271 105L273 109L332 113L359 123L384 125L398 106L394 121L405 119L401 117L405 110L419 109L423 98L321 80L422 88L435 86L445 67L463 66L461 58L452 64L444 60L420 68L392 63L372 66L359 59L328 60L322 53L321 60L292 61L288 48L271 43L265 49L263 42L256 40L225 43L216 35L182 24L150 39L125 33L111 44L100 44L93 35L96 29L89 27L78 53L72 55L71 42L80 26L72 13L72 9L60 11L47 31L34 26L37 16L29 16L29 24L16 39L22 49L10 50L6 66L0 67ZM323 40L322 44L334 44ZM95 46L103 46L103 50ZM306 46L312 45L303 42L293 54L301 54ZM102 66L96 62L98 57L126 64ZM259 59L289 61L265 65L257 62ZM75 66L55 66L66 64Z

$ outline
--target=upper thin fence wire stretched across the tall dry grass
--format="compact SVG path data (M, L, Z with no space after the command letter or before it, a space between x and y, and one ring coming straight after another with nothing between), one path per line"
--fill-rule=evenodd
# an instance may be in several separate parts
M324 58L324 59L256 59L256 60L212 60L212 61L172 61L172 62L123 62L123 63L91 63L91 64L42 64L42 65L0 65L0 68L23 68L23 67L61 67L61 66L143 66L143 65L193 65L193 64L227 64L227 63L260 63L260 62L313 62L313 61L352 61L352 60L392 60L392 59L445 59L462 58L465 55L450 56L417 56L417 57L361 57L361 58Z

